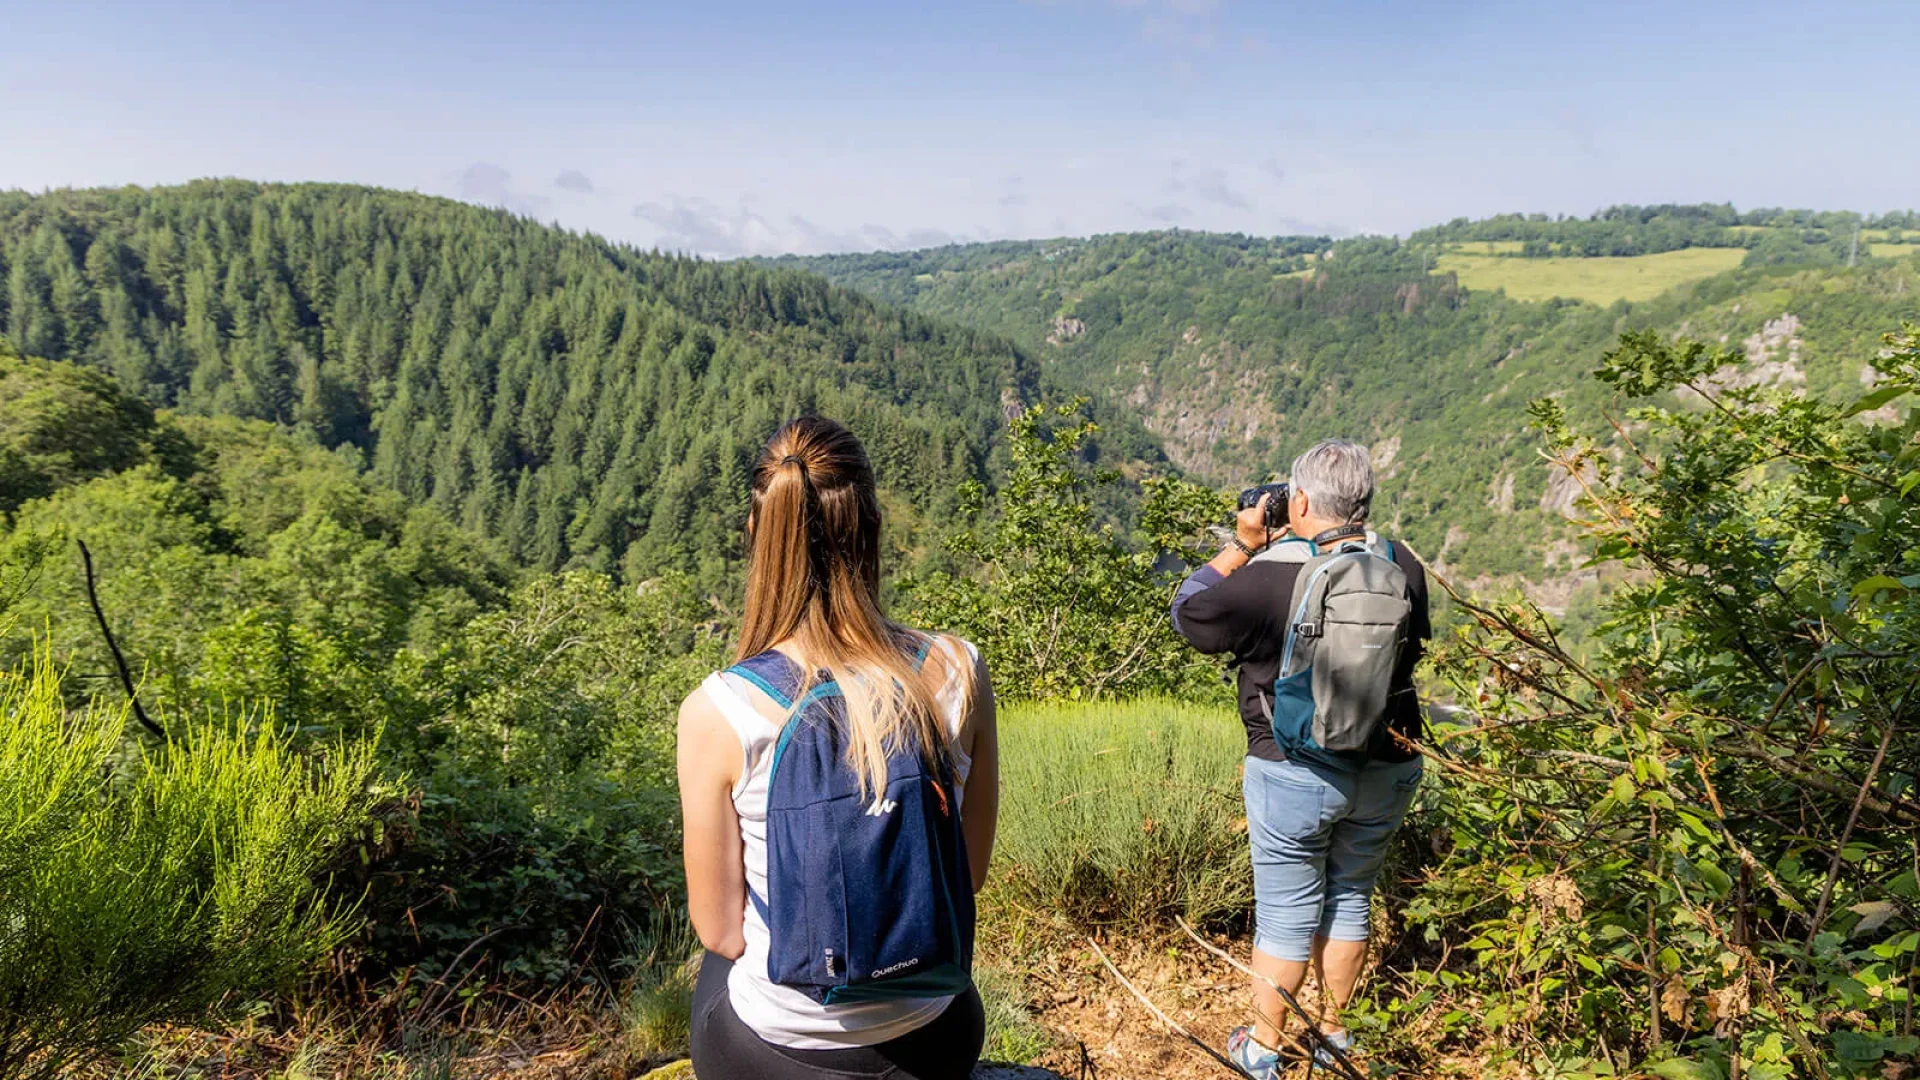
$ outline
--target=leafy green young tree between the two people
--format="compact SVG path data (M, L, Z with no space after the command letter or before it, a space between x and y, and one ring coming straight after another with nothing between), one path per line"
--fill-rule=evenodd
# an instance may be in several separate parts
M970 573L900 582L918 625L979 644L995 692L1008 700L1196 694L1219 684L1167 619L1175 577L1160 552L1190 555L1200 527L1223 521L1225 500L1181 480L1150 480L1144 548L1100 519L1096 488L1117 473L1089 471L1079 452L1094 425L1079 404L1033 409L1008 425L1012 471L993 517L983 488L968 492L975 528L948 540Z

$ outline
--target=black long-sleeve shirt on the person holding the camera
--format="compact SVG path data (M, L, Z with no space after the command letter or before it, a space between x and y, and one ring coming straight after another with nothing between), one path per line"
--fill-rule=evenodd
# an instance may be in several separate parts
M1283 540L1281 544L1300 544L1304 540ZM1286 607L1294 596L1294 578L1300 575L1304 557L1286 561L1275 555L1292 552L1273 550L1269 555L1254 557L1233 575L1221 575L1213 567L1200 567L1181 582L1173 596L1173 628L1187 638L1192 648L1204 653L1227 653L1240 663L1240 723L1246 724L1246 753L1265 761L1284 761L1286 755L1273 744L1273 726L1261 707L1261 698L1273 700L1273 680L1281 673L1281 648L1286 642ZM1392 732L1407 738L1421 734L1421 703L1413 694L1413 667L1419 665L1425 644L1432 638L1432 621L1427 613L1427 567L1407 552L1405 544L1394 544L1394 563L1407 575L1407 600L1413 615L1407 623L1407 644L1400 650L1400 663L1394 667L1394 684L1388 694L1386 723L1373 732L1369 755L1377 761L1409 761L1413 751L1402 748Z

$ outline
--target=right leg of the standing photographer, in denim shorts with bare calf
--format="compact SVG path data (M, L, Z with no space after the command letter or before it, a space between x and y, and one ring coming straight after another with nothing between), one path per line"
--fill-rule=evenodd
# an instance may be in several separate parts
M1327 844L1327 903L1313 942L1313 967L1321 978L1327 1015L1321 1030L1346 1030L1340 1011L1359 986L1367 965L1373 878L1380 874L1386 847L1407 817L1421 782L1421 763L1375 765L1354 786L1354 809L1332 826Z

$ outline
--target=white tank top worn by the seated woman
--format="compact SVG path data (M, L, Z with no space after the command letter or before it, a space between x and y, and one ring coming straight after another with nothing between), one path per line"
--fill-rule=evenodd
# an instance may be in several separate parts
M947 659L947 682L939 688L941 719L948 734L958 738L966 723L966 673L973 671L979 651L960 638L935 638ZM747 863L747 888L766 896L766 782L774 765L774 744L781 724L766 719L753 705L758 690L737 675L716 671L701 684L707 698L726 717L739 738L741 769L733 786L733 813L739 815L739 838ZM973 759L954 748L954 767L960 776L960 799L966 799L966 776ZM791 1049L845 1049L895 1040L933 1022L952 997L922 997L906 1001L866 1001L858 1005L822 1005L812 997L766 978L768 934L766 920L749 903L741 913L747 951L733 963L728 976L728 999L743 1024L762 1040Z

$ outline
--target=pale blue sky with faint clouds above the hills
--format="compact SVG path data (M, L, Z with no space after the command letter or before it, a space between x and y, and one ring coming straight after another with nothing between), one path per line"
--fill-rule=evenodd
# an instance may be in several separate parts
M1912 0L0 0L0 188L353 181L722 258L1905 209L1916 115Z

